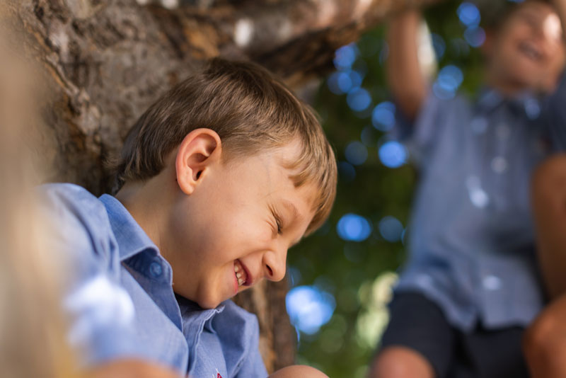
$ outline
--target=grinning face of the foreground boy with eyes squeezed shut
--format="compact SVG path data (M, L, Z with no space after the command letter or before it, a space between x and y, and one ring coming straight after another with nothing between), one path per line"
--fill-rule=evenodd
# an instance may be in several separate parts
M297 151L289 144L214 164L179 200L167 246L175 292L213 308L263 278L282 280L287 249L313 218L313 187L295 188L280 164Z

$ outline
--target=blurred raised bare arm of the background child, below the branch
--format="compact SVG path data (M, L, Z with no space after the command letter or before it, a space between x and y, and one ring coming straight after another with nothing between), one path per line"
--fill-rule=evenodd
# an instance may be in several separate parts
M389 24L387 81L396 103L410 120L427 96L427 82L422 75L417 47L420 13L414 9L393 17Z

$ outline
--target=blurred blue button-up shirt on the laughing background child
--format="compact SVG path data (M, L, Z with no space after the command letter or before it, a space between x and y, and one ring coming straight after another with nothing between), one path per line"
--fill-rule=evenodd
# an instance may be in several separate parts
M566 81L539 101L485 90L475 103L432 93L394 134L420 168L409 260L395 290L422 292L451 324L522 326L543 306L529 188L533 168L566 146Z

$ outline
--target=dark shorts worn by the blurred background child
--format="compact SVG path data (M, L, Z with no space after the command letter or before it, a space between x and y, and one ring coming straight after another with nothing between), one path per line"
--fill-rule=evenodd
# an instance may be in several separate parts
M423 355L438 378L529 377L521 351L522 327L468 333L452 327L441 309L416 292L395 294L381 350L404 346Z

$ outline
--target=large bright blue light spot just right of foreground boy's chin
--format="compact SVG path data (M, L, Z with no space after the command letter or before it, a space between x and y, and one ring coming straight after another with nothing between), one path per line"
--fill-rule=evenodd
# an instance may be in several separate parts
M294 287L287 293L285 304L293 326L308 335L328 323L336 308L333 295L316 286Z

